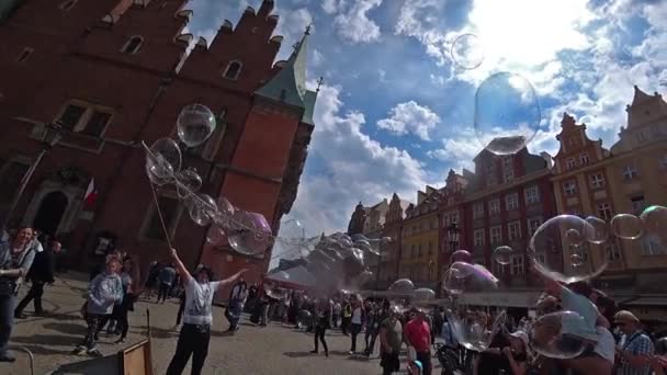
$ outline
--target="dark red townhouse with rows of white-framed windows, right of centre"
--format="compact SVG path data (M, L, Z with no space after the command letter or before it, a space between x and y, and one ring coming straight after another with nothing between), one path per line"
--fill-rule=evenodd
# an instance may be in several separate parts
M475 173L466 175L462 245L506 286L530 286L528 242L542 223L556 216L551 157L525 148L504 157L483 150L474 161ZM513 249L510 264L494 261L499 246ZM563 259L559 249L546 255Z

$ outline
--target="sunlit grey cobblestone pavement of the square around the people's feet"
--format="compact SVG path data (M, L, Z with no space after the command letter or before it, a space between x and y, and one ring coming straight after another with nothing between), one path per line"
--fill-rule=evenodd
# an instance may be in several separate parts
M27 319L16 320L11 345L22 345L35 355L35 374L46 374L58 365L83 361L87 356L70 355L84 333L80 316L86 288L86 277L69 273L58 277L44 294L45 317L31 316L32 304L25 312ZM20 298L27 291L22 288ZM173 329L178 300L163 305L140 300L131 312L131 331L124 345L114 344L114 338L100 337L99 349L105 355L142 340L146 334L146 309L150 310L152 336L152 363L156 374L163 374L173 354L178 332ZM340 332L329 332L329 357L308 353L313 350L313 336L295 331L293 327L271 323L255 327L244 317L241 329L235 336L223 333L227 320L223 308L214 309L214 328L204 374L380 374L377 354L370 361L350 357L347 351L350 339ZM358 338L358 348L363 349L363 334ZM321 348L320 348L321 349ZM15 352L14 364L0 364L0 374L30 374L27 356ZM188 367L184 374L189 374Z

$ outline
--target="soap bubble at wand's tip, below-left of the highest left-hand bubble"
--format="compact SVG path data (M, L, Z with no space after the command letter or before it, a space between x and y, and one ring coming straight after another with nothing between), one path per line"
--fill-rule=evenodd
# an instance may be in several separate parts
M180 169L181 149L173 139L160 138L147 148L146 174L150 182L156 185L167 184Z

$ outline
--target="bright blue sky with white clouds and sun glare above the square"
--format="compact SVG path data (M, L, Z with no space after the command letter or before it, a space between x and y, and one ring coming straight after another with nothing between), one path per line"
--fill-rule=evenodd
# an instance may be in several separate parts
M261 0L192 0L189 31L213 38ZM542 120L529 145L557 150L564 111L606 147L625 124L633 86L665 92L667 2L659 0L275 0L279 59L305 26L308 80L325 77L316 128L289 218L308 235L344 229L357 202L442 186L450 168L472 167L482 81L510 71L538 93ZM451 46L472 33L484 45L475 69L452 64ZM660 86L660 82L663 86Z

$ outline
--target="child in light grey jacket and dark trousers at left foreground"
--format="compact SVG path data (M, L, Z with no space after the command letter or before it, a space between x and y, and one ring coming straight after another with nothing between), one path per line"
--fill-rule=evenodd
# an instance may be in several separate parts
M74 350L74 354L86 352L90 355L102 356L95 348L95 333L105 318L113 311L116 302L123 298L123 284L118 276L121 261L116 257L106 259L106 269L97 275L88 285L88 302L86 306L86 323L88 330L83 342Z

